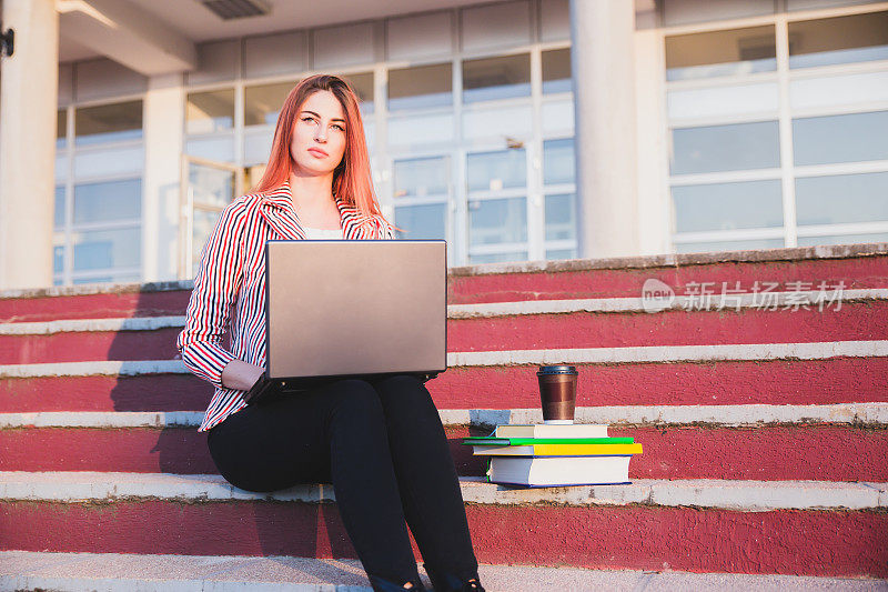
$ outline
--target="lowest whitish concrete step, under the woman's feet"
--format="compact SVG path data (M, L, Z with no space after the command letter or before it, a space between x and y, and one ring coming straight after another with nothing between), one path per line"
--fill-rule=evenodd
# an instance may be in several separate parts
M888 588L886 580L481 565L490 592L589 590L774 591ZM420 566L426 586L431 584ZM356 560L292 556L0 552L0 590L67 592L364 592Z

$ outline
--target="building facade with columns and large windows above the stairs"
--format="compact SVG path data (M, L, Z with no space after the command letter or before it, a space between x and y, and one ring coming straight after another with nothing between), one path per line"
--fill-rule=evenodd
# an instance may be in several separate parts
M451 265L888 241L888 2L162 4L3 0L0 288L191 278L316 72Z

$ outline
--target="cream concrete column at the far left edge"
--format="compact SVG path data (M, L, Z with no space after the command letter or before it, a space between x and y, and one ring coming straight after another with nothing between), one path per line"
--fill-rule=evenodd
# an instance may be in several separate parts
M52 285L59 17L54 0L3 0L16 31L0 60L0 290Z

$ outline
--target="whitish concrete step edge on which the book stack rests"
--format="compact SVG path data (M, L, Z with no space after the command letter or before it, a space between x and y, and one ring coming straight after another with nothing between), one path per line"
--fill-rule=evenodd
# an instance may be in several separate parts
M575 485L524 489L460 478L463 499L488 505L565 504L720 508L747 512L769 510L875 510L888 508L888 483L828 481L647 480L626 485ZM0 502L122 500L274 500L319 503L335 501L330 484L295 485L270 493L244 491L221 475L115 473L92 471L0 471Z

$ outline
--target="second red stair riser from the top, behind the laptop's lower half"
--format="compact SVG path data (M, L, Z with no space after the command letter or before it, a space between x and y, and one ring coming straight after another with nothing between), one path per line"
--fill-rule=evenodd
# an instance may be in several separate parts
M181 328L0 335L0 364L171 360ZM638 345L806 343L888 339L888 301L838 310L664 311L519 314L447 321L447 351Z

